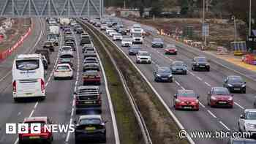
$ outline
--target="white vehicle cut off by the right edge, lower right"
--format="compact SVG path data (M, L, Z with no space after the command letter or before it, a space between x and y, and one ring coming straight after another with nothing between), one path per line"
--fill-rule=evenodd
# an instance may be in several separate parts
M245 109L238 120L239 132L250 132L251 137L256 135L256 109Z

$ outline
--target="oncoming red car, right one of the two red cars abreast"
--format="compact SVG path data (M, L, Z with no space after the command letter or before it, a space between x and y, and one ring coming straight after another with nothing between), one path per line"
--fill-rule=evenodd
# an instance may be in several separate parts
M214 87L208 92L207 103L211 107L230 107L234 105L233 94L230 94L227 88Z

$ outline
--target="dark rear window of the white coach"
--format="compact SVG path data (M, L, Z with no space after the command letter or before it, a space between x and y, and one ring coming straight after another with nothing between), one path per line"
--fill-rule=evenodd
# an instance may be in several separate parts
M16 61L16 68L19 70L35 70L39 68L38 59L18 60Z

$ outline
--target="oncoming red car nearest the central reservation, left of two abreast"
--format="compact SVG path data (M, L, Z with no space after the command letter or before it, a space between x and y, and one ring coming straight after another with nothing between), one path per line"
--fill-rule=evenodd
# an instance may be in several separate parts
M199 110L199 96L192 90L178 90L173 97L173 107L184 110Z

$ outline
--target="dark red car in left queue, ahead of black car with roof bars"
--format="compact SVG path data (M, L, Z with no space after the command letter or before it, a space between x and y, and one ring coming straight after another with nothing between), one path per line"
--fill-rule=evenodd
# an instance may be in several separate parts
M89 70L83 72L83 86L97 84L100 85L100 75L96 70Z

